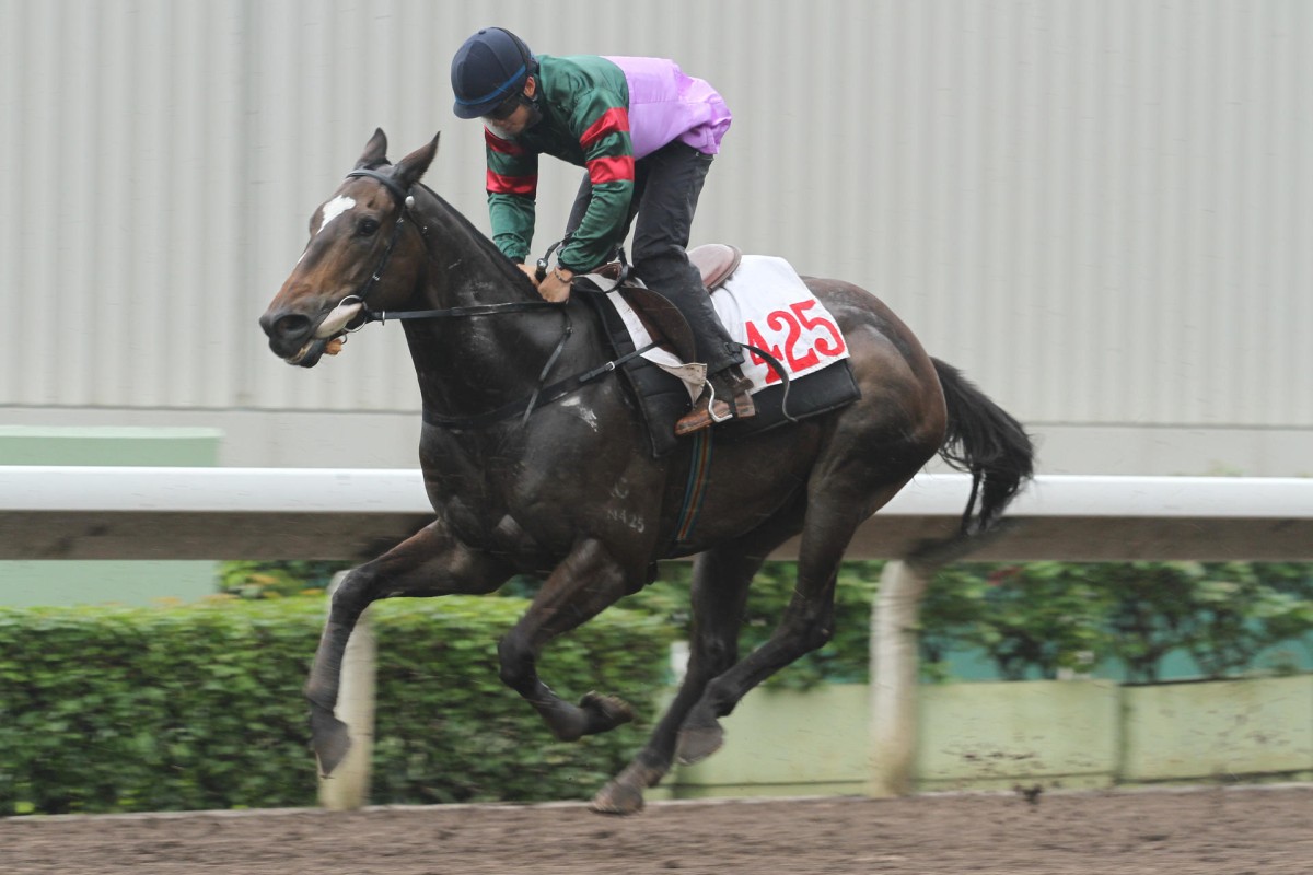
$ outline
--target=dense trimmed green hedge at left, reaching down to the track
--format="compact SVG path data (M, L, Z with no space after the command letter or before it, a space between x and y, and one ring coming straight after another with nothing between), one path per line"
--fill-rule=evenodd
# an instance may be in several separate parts
M376 803L587 798L642 744L672 631L611 611L541 672L639 724L557 743L498 680L520 600L378 605ZM315 804L301 686L323 600L0 609L0 815Z

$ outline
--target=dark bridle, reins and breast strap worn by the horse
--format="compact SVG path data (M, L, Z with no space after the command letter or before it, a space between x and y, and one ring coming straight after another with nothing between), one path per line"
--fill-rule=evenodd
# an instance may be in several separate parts
M397 198L397 203L400 206L397 222L393 224L393 236L387 241L387 247L383 249L383 254L379 257L378 265L374 268L373 273L370 273L369 279L366 279L355 294L347 295L337 303L337 306L340 307L343 304L360 302L361 310L364 311L364 321L352 331L358 331L360 328L364 328L366 324L372 321L385 323L389 319L397 319L397 320L470 319L474 316L495 316L500 314L532 312L532 311L551 311L551 312L559 312L562 316L565 316L565 328L561 332L561 340L557 341L555 349L551 350L551 356L548 357L546 363L542 366L542 371L538 374L537 387L528 397L523 397L511 401L508 404L503 404L502 407L487 411L484 413L477 413L474 416L446 416L444 413L436 413L433 411L429 411L425 407L423 411L423 418L427 425L446 428L457 432L475 430L487 428L488 425L492 425L495 422L500 422L502 420L515 416L523 411L523 417L520 418L520 425L523 426L529 421L529 416L540 404L550 404L551 401L559 400L566 395L583 388L592 380L600 376L605 376L607 374L614 371L617 367L620 367L629 359L635 358L656 346L655 342L649 344L642 349L635 349L633 352L629 352L618 358L613 358L608 362L604 362L597 367L582 371L579 374L575 374L574 376L567 376L566 379L553 383L551 386L545 386L544 383L548 379L548 374L551 373L551 369L553 366L555 366L557 359L561 358L561 353L565 352L566 348L566 341L570 340L570 335L574 331L574 327L570 321L570 312L566 310L565 303L553 303L550 300L515 300L500 304L473 304L466 307L444 307L437 310L403 310L391 312L386 310L372 310L369 307L369 303L366 302L366 298L369 296L369 293L374 290L374 286L378 283L378 281L382 278L383 270L387 268L387 262L393 257L393 249L397 247L397 241L400 239L402 235L402 228L406 226L407 211L414 209L415 206L415 197L410 193L410 190L403 189L400 185L398 185L391 176L382 173L374 168L357 168L347 174L347 178L352 177L368 177L377 181L383 188L386 188L393 194L394 198ZM424 237L424 228L416 226L416 230L420 232L420 236ZM424 240L427 247L427 237L424 237ZM553 249L555 247L553 247ZM548 256L550 256L550 251ZM617 279L616 286L618 287L622 281L624 281L622 277Z

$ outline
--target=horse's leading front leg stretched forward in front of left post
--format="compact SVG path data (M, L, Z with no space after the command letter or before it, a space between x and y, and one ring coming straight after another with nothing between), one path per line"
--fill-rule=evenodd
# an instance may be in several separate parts
M511 573L506 563L470 550L433 522L347 575L334 593L306 682L311 744L324 775L351 746L347 724L334 716L334 708L347 641L365 609L379 598L490 593Z

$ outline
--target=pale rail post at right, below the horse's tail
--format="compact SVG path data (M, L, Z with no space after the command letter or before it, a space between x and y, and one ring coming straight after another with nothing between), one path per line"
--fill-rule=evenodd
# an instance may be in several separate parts
M872 796L911 792L916 758L916 623L935 565L885 565L871 614Z

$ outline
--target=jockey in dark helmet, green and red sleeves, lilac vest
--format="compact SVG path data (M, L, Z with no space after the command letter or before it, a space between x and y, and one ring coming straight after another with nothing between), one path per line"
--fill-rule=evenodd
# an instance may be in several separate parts
M688 261L689 227L730 110L671 60L534 55L523 39L486 28L452 60L460 118L482 118L492 240L548 300L570 279L614 257L637 216L634 272L664 294L693 331L708 382L675 426L688 434L755 415L743 353ZM557 266L541 283L525 264L533 237L538 155L587 169Z

